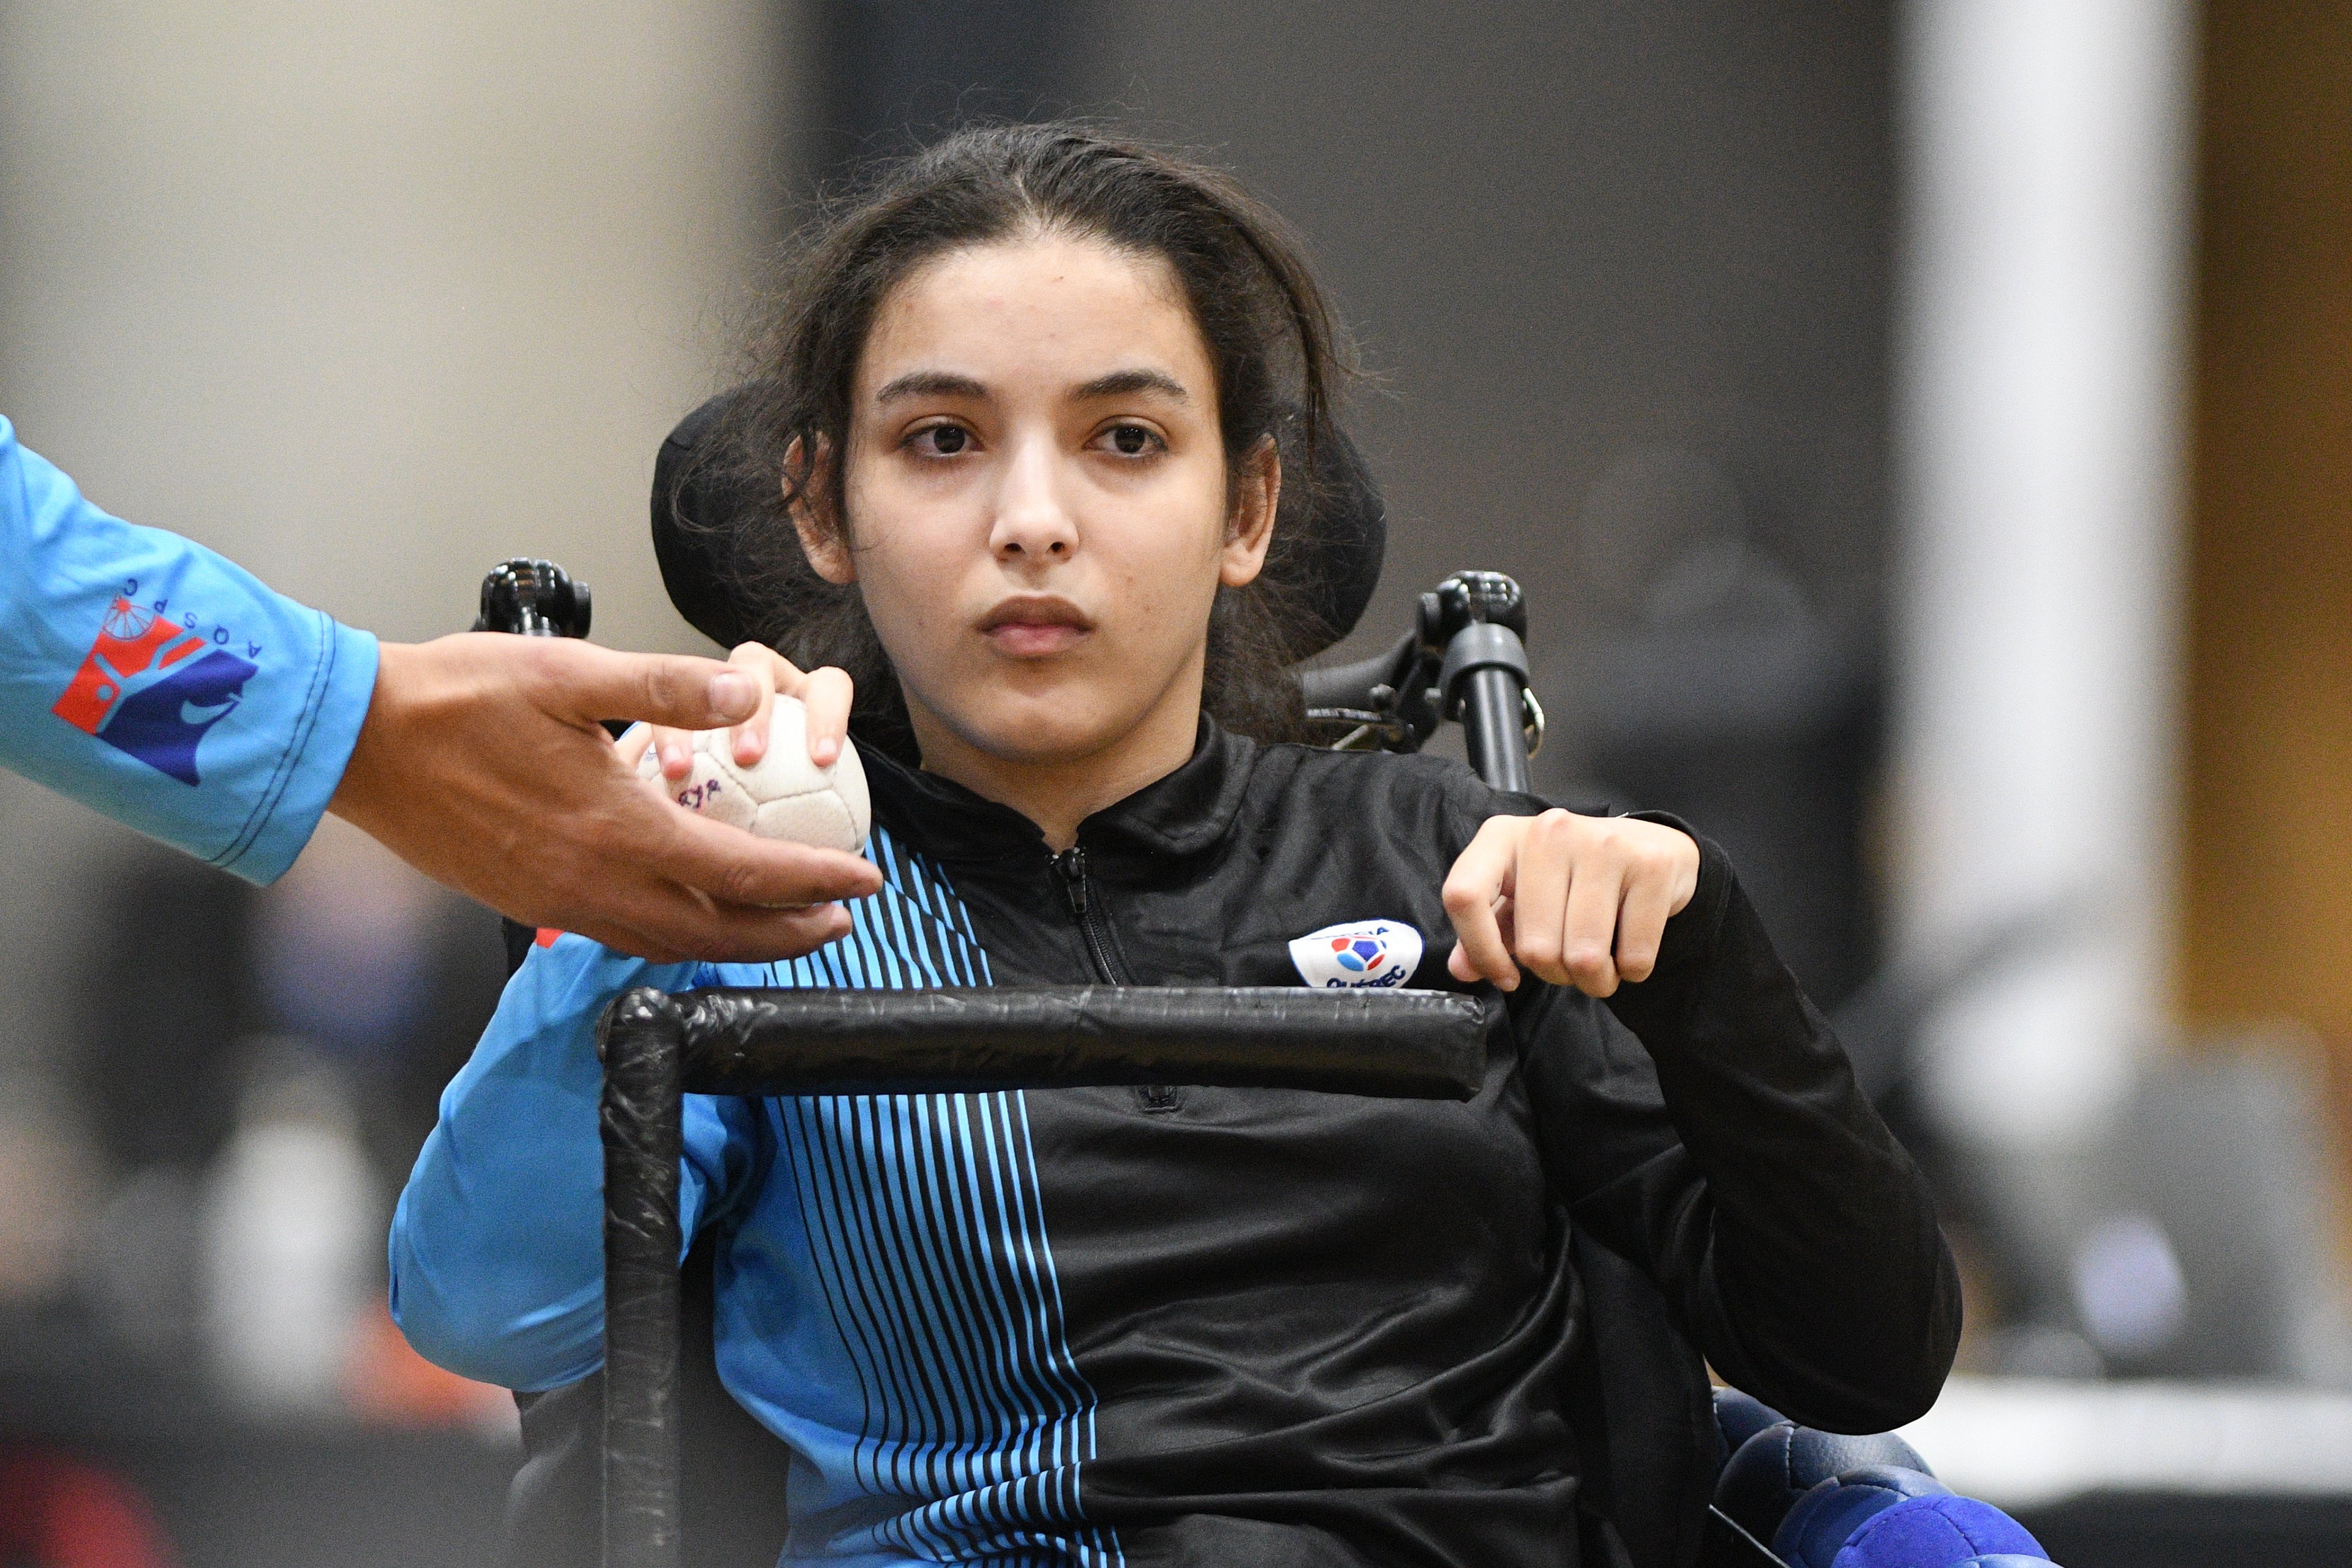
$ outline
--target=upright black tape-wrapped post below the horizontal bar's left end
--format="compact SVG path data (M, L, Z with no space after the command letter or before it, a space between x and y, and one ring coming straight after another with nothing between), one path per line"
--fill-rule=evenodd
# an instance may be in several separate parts
M652 987L604 1009L604 1568L680 1568L677 1070L684 1016Z

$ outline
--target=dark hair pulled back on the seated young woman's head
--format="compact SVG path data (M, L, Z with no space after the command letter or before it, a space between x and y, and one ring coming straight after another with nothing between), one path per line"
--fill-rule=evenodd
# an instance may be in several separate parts
M828 202L788 247L753 386L731 402L724 440L703 447L715 454L706 461L734 465L724 484L753 508L731 557L762 642L802 668L849 670L858 743L915 757L866 604L854 583L816 576L790 505L804 498L816 527L847 524L835 498L851 376L889 292L934 256L1023 233L1164 259L1209 350L1228 468L1237 477L1261 440L1277 442L1275 538L1258 581L1216 595L1202 708L1261 741L1296 738L1305 712L1289 665L1336 635L1315 611L1303 548L1345 374L1334 310L1282 219L1228 176L1084 125L955 132Z

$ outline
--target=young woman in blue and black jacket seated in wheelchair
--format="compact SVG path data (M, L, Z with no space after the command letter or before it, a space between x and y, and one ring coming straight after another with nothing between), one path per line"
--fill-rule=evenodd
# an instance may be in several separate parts
M593 1027L630 985L1298 985L1334 976L1296 938L1383 922L1374 978L1508 994L1468 1105L689 1100L786 1561L1689 1561L1696 1352L1811 1425L1931 1403L1959 1309L1929 1197L1722 853L1268 743L1279 454L1329 430L1334 362L1263 209L1084 129L967 132L811 244L767 369L741 435L800 663L736 663L818 762L856 731L882 891L790 964L532 954L393 1227L426 1356L595 1371Z

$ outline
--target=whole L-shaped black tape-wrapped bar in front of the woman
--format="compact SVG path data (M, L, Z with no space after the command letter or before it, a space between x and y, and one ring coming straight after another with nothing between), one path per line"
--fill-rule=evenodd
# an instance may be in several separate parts
M680 1093L1188 1084L1468 1100L1498 1001L1414 990L640 987L604 1058L604 1568L677 1568Z

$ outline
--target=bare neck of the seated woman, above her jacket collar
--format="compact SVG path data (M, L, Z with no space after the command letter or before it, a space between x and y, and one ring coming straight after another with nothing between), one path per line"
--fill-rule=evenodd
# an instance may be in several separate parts
M1157 783L1192 759L1200 741L1200 682L1176 682L1134 729L1084 757L1011 759L955 733L908 693L908 719L922 766L953 778L981 799L1011 806L1037 823L1056 853L1077 844L1077 825Z

